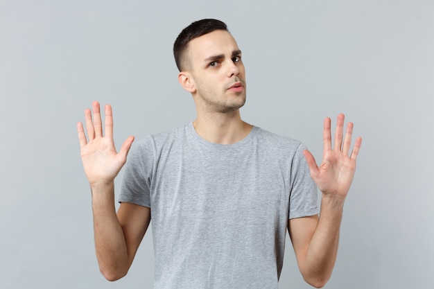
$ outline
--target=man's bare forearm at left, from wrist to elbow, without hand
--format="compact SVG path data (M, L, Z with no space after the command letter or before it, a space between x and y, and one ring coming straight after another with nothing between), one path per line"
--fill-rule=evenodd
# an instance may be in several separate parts
M128 272L125 236L114 207L114 184L92 185L96 257L101 273L114 281Z

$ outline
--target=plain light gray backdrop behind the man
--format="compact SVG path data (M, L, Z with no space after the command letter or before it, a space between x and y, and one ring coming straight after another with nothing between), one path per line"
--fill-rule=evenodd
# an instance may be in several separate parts
M171 49L204 17L243 51L246 121L317 159L325 116L363 137L326 288L432 288L432 0L1 0L0 287L152 288L150 230L127 277L98 272L76 123L112 104L119 148L192 121ZM310 288L289 242L280 288Z

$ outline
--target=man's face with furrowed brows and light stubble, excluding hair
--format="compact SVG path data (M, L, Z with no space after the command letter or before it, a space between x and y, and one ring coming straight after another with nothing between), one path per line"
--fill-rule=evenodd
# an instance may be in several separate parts
M231 112L244 105L245 69L230 33L215 30L191 40L186 58L198 109Z

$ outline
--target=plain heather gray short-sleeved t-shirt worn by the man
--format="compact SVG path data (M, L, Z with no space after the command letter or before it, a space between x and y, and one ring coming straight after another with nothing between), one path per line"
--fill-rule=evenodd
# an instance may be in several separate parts
M304 149L258 127L229 145L192 123L141 139L119 202L151 209L154 288L278 288L288 218L319 213Z

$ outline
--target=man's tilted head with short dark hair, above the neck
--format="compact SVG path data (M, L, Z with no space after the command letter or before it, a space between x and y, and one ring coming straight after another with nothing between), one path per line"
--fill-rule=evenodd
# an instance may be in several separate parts
M214 19L193 22L174 47L178 80L199 112L234 112L245 103L241 50L226 24Z

